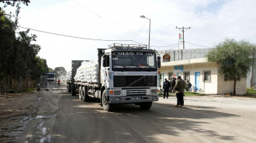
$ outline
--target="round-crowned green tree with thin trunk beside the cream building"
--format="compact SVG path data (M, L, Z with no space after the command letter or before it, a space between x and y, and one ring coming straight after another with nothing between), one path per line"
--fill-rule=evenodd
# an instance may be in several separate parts
M209 62L220 65L219 73L227 80L234 80L234 95L236 95L236 82L246 78L252 66L252 51L254 45L244 40L237 42L235 39L225 39L206 57Z

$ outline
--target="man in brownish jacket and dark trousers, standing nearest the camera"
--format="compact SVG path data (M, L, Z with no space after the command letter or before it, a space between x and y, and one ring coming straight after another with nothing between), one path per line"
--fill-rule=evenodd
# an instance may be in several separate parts
M177 97L177 104L175 107L182 107L184 106L184 90L185 90L185 81L182 80L182 77L178 76L178 80L175 84L176 90L176 97Z

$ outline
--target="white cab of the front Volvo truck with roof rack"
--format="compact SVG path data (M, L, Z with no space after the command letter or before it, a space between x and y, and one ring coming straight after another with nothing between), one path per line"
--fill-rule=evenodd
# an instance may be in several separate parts
M113 104L137 104L149 109L158 100L160 57L146 45L113 44L99 50L101 102L106 111Z

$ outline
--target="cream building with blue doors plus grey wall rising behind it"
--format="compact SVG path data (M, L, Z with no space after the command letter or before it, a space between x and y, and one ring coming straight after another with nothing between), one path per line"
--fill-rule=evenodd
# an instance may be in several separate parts
M178 50L158 51L161 56L160 85L164 78L182 76L183 80L192 83L192 89L205 94L233 94L234 80L218 73L219 66L209 63L206 54L210 49L185 49L178 60ZM182 57L182 59L181 59ZM247 80L238 79L236 94L246 94Z

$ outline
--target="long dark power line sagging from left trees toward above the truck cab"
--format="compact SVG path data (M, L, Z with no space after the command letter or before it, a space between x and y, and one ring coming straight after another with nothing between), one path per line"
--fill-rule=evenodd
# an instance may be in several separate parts
M29 28L22 27L22 26L18 26L18 27L22 28L22 29L29 29ZM31 29L31 30L36 31L36 32L44 32L44 33L52 34L52 35L56 35L56 36L65 36L65 37L76 38L76 39L88 39L88 40L95 40L95 41L130 41L130 42L135 42L135 41L130 40L130 39L92 39L92 38L84 38L84 37L78 37L78 36L67 36L67 35L58 34L58 33L54 33L54 32L45 32L45 31L37 30L37 29Z

